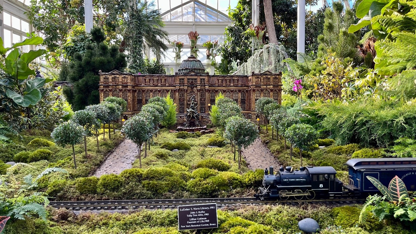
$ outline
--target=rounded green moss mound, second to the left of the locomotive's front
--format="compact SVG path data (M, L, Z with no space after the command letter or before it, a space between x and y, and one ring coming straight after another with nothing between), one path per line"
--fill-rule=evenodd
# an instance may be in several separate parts
M208 181L221 191L244 187L243 177L235 172L220 172L216 176L209 177Z

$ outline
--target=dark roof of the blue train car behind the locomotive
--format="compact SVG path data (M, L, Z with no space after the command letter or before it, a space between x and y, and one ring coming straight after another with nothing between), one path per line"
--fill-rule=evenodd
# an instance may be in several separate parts
M349 159L346 164L356 170L365 168L411 168L416 167L416 158Z

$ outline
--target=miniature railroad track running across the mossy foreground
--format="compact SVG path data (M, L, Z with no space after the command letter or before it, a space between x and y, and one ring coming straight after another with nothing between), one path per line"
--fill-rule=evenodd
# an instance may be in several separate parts
M70 209L79 212L129 212L136 209L175 209L180 205L216 203L218 209L232 207L239 204L322 204L328 206L343 206L362 204L365 199L337 198L316 200L287 200L266 201L256 197L243 198L201 198L201 199L153 199L153 200L110 200L110 201L73 201L73 202L50 202L49 206L54 208Z

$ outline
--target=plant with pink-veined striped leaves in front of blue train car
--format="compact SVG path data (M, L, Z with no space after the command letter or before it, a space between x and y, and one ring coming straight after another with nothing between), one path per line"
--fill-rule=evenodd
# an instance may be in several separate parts
M404 222L406 225L415 225L416 219L416 200L409 197L406 185L397 176L391 179L389 187L384 186L381 182L371 176L367 179L379 189L383 196L369 196L359 217L359 222L365 223L366 213L372 212L379 220L396 219Z

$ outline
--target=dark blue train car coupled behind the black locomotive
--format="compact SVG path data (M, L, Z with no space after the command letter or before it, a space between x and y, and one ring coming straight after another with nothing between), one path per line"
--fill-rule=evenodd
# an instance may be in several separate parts
M347 161L349 183L346 189L355 193L374 193L378 189L367 176L378 179L388 186L391 179L398 176L406 184L407 190L416 191L416 158L365 158Z

